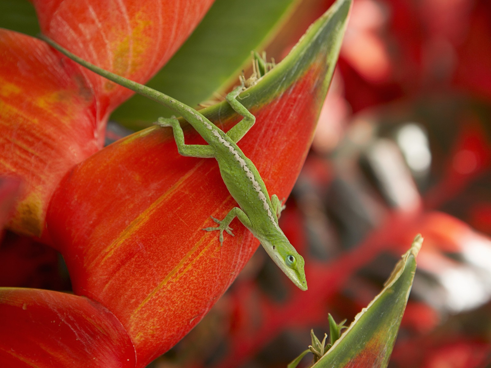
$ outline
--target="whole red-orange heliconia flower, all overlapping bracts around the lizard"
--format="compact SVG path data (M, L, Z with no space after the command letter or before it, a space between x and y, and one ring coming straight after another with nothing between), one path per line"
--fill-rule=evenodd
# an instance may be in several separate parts
M177 36L159 36L152 22L164 22L169 16L159 16L161 10L183 4L154 9L145 1L137 8L114 2L105 5L102 17L97 5L65 2L36 2L43 32L130 79L148 79L179 45ZM184 39L206 10L203 4L191 15L185 12L185 30L166 29ZM270 195L286 197L300 172L350 6L350 0L336 1L280 64L239 97L256 116L239 146ZM172 14L181 17L177 10ZM170 129L148 128L101 149L108 114L128 91L42 41L10 31L1 31L0 40L9 60L9 73L0 77L10 83L0 95L9 106L0 115L7 137L0 145L0 172L27 179L10 227L61 252L76 294L3 289L1 314L9 321L0 324L1 334L16 330L9 344L19 353L0 352L0 363L69 367L70 356L79 365L91 365L94 356L99 366L112 360L126 367L135 359L135 367L144 367L206 314L259 242L237 220L231 224L235 237L225 235L223 246L216 233L201 230L213 225L210 215L221 218L236 204L216 161L180 156ZM36 75L39 86L29 91ZM226 102L201 112L225 131L239 120ZM185 134L187 143L203 143L189 127ZM52 317L59 330L48 327ZM43 352L32 354L19 341L21 332L39 327L44 333L31 342ZM55 344L58 332L67 337L66 345ZM94 354L96 342L101 348Z

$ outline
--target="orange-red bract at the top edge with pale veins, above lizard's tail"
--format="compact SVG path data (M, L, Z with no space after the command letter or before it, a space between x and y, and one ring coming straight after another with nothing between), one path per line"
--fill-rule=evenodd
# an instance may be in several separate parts
M145 83L179 49L213 0L34 0L41 31L106 70ZM82 68L99 117L133 92Z

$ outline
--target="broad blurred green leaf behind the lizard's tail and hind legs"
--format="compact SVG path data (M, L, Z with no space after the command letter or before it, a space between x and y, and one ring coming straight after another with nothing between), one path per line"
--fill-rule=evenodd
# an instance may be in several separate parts
M212 99L237 79L250 52L271 41L297 0L217 0L191 37L147 85L190 106ZM111 115L131 129L172 111L133 96Z

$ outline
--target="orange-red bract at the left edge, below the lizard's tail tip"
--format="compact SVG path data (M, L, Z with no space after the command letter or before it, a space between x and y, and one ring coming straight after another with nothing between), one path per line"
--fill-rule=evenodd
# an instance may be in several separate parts
M0 174L25 181L9 226L41 236L61 177L98 151L95 101L78 67L38 39L0 29Z

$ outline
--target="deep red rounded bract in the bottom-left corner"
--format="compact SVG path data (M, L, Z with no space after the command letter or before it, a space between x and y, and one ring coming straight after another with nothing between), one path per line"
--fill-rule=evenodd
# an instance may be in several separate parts
M0 289L2 367L135 367L121 323L83 296Z

